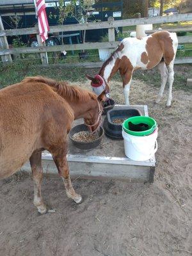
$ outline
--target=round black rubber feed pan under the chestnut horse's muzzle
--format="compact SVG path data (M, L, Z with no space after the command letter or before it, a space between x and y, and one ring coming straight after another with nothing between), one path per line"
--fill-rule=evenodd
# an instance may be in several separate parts
M93 140L90 142L81 142L81 141L76 141L72 139L72 136L76 134L77 132L81 131L89 131L88 127L84 124L79 124L73 127L70 132L68 133L68 136L70 140L72 141L73 145L76 146L77 148L83 149L83 150L90 150L92 148L97 147L100 144L100 141L102 140L102 137L104 136L104 129L102 127L99 127L99 138L97 140Z

